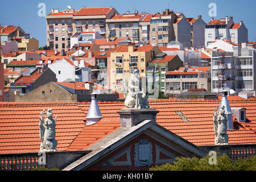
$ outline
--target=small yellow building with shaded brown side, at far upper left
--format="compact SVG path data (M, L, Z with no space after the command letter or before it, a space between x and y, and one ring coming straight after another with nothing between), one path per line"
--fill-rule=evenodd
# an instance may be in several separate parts
M19 51L31 51L32 49L38 51L39 49L39 41L35 38L31 38L29 35L23 38L16 38L16 41L18 41Z

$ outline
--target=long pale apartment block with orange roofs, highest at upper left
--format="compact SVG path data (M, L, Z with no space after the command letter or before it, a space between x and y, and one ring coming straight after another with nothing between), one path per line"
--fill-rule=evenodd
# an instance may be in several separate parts
M82 7L80 10L53 9L46 16L47 46L68 50L75 32L100 32L106 38L106 19L118 14L113 7Z

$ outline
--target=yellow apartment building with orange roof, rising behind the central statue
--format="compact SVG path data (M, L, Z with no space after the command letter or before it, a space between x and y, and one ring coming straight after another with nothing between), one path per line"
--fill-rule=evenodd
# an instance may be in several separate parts
M110 54L110 89L122 91L122 85L129 82L134 69L139 69L140 76L146 78L146 65L163 53L156 46L122 45Z

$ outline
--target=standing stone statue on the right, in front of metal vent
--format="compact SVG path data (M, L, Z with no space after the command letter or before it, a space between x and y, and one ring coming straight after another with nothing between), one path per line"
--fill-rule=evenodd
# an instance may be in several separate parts
M225 106L222 106L219 112L217 112L217 109L214 109L213 113L215 144L227 145L229 141L228 134L226 133L228 129L228 114L225 114Z

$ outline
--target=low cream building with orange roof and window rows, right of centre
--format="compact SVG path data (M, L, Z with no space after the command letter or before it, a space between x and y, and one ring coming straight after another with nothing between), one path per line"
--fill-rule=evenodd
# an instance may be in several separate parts
M210 91L210 67L180 67L177 71L165 74L166 96L174 96L189 89L206 89Z

